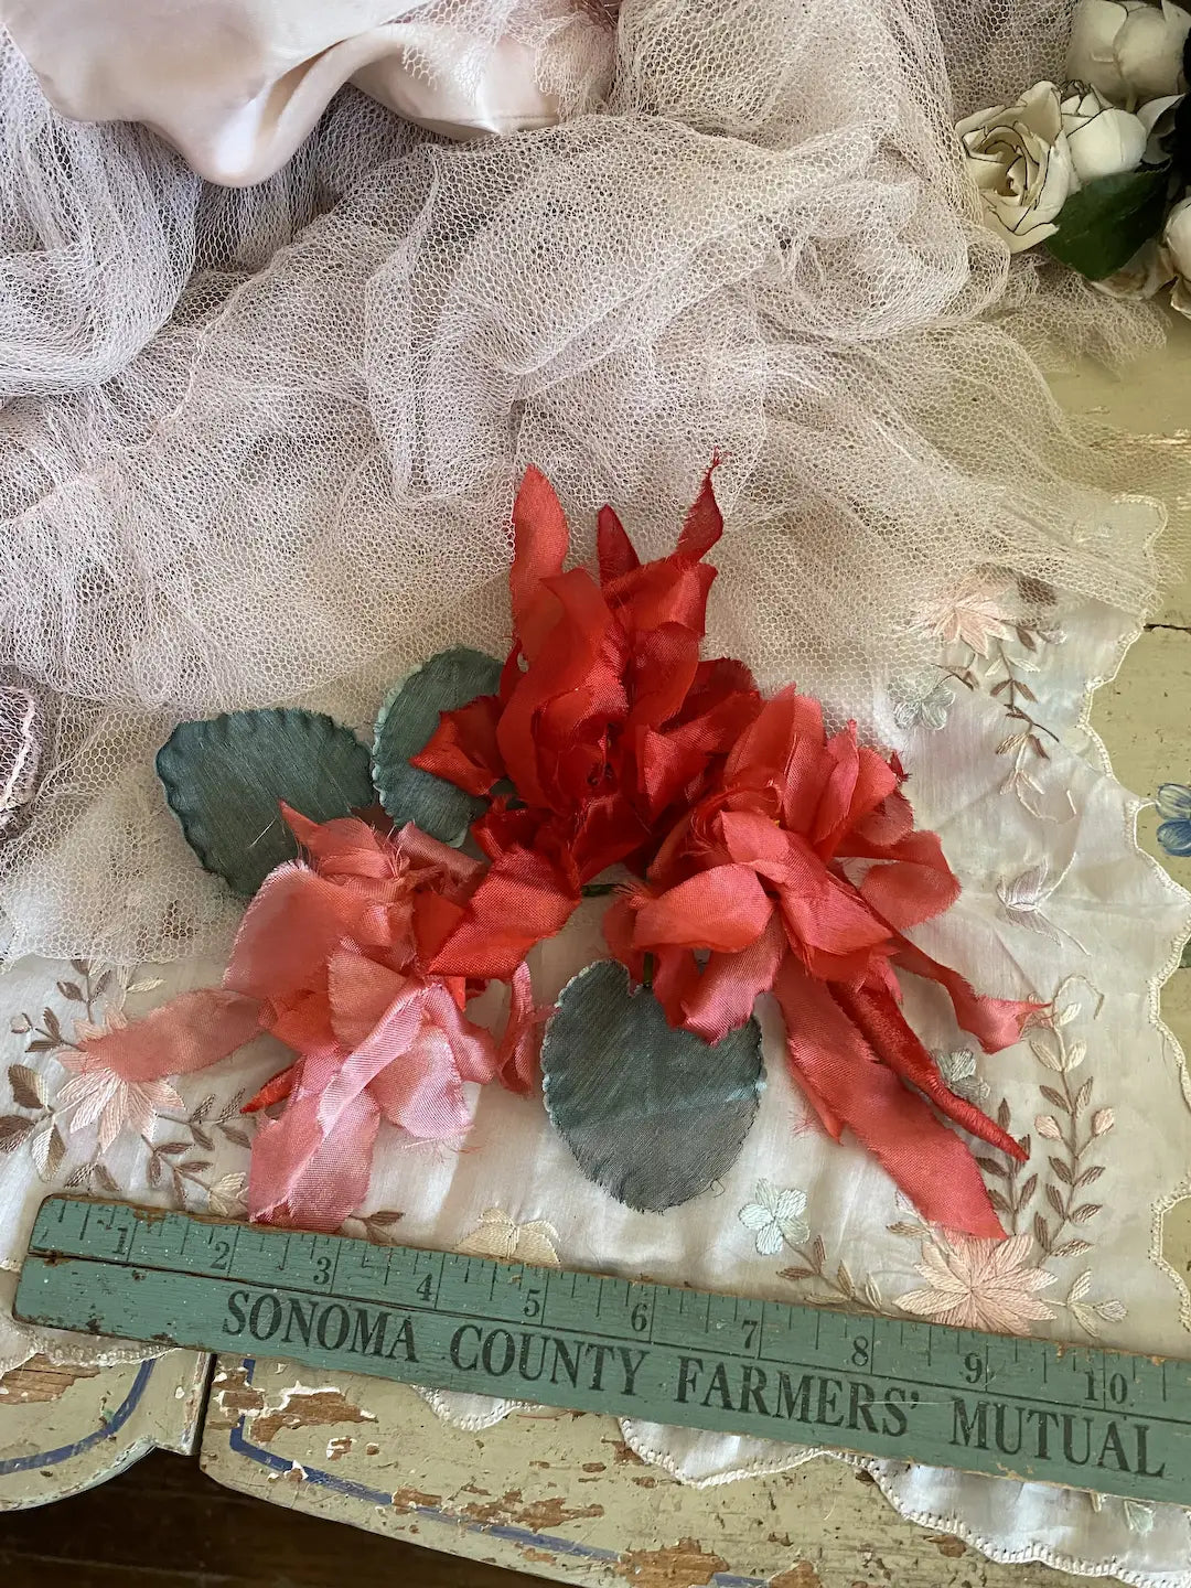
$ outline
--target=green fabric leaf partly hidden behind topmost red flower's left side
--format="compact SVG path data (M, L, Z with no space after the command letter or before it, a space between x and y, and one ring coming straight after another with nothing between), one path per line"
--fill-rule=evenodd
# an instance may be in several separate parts
M432 656L384 702L376 718L372 775L381 805L399 827L414 821L443 843L462 843L467 829L484 813L483 799L411 767L410 756L426 750L441 711L454 711L481 694L495 694L499 683L495 657L456 646Z

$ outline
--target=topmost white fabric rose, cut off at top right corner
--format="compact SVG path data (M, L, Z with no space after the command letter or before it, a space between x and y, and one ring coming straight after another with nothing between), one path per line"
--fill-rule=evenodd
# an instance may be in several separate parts
M1067 51L1067 76L1118 105L1178 94L1191 13L1161 0L1080 0Z

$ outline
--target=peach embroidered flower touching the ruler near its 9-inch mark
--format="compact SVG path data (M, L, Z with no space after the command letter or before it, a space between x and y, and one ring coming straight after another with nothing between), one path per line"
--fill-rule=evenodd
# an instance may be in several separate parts
M1054 1275L1027 1262L1031 1245L1024 1234L1000 1242L935 1235L915 1264L927 1288L899 1296L897 1305L956 1329L1023 1334L1027 1323L1054 1316L1037 1296Z

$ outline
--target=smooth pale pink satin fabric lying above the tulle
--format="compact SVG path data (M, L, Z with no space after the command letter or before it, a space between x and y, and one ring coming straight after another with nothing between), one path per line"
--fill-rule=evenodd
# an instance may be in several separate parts
M279 170L348 81L451 138L557 119L537 51L480 6L475 30L430 0L3 0L0 16L67 116L140 121L237 187Z

